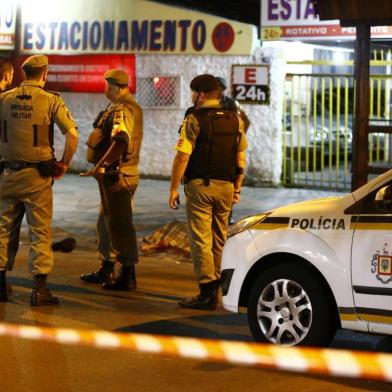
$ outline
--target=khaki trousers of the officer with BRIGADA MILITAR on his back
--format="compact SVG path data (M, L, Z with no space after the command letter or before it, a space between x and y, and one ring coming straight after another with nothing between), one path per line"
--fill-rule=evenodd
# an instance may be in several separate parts
M0 270L12 270L24 215L29 228L29 267L32 274L53 268L52 179L35 168L4 170L0 176Z

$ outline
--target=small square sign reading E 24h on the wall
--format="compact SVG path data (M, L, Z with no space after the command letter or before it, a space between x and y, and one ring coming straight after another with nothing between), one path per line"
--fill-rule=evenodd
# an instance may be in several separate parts
M268 65L233 65L231 95L240 103L268 105L270 96Z

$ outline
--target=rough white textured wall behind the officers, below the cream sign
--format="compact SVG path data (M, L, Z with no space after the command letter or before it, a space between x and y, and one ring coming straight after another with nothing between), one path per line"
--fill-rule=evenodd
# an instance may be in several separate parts
M270 62L270 104L244 105L251 120L247 133L248 157L247 180L254 184L280 182L282 161L282 102L285 62L283 52L275 48L258 48L252 56L190 56L190 55L138 55L137 77L156 75L183 78L183 108L144 110L144 140L141 151L140 170L143 175L170 177L178 137L178 129L185 109L190 106L189 83L201 73L211 73L230 80L233 64L260 64ZM89 167L85 162L85 142L91 123L107 100L104 94L62 94L71 113L78 121L80 144L72 168ZM60 143L61 144L61 143ZM56 139L56 146L60 146ZM60 147L58 147L61 150ZM60 152L60 151L59 151Z

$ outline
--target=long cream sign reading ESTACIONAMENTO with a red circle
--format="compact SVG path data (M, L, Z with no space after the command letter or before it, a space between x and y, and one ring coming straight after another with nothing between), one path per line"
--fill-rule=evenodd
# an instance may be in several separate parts
M250 54L256 43L255 26L145 0L35 0L21 19L24 53Z

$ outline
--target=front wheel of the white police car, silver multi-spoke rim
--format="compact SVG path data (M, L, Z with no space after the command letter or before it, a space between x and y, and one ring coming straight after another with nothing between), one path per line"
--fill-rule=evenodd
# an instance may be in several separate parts
M336 332L328 293L297 263L264 271L248 301L248 323L256 341L284 346L326 346Z

